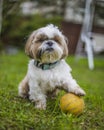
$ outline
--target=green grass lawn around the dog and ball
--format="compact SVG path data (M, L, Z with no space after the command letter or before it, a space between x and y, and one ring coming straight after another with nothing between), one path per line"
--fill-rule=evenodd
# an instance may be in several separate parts
M87 60L74 62L67 58L72 74L86 91L86 108L79 117L66 115L59 107L60 92L54 100L48 99L47 110L36 110L28 99L18 97L18 84L27 71L28 58L0 55L0 130L104 130L104 59L95 59L90 71Z

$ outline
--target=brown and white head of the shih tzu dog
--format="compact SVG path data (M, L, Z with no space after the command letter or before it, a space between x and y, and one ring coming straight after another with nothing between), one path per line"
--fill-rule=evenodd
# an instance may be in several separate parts
M52 63L68 55L67 40L59 29L51 24L30 35L25 52L41 63Z

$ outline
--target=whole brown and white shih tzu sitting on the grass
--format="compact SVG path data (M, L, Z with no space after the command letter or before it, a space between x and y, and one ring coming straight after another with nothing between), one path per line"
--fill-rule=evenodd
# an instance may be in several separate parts
M19 96L29 97L36 108L46 109L48 93L55 93L57 89L85 95L64 60L68 55L67 40L58 27L50 24L34 31L27 40L25 51L31 60L27 74L19 84Z

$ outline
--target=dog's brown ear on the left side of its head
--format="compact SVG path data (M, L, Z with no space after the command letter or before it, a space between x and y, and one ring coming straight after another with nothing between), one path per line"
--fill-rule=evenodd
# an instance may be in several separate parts
M32 32L32 34L29 36L26 45L25 45L25 53L30 57L33 58L32 50L31 50L31 45L32 41L34 40L36 35L36 31Z

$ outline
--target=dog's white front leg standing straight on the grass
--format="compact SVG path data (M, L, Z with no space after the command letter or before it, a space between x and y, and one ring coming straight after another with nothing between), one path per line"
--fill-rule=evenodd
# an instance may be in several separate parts
M44 95L39 86L30 86L29 99L35 102L35 108L46 109L46 95Z

